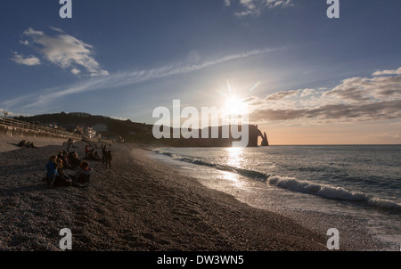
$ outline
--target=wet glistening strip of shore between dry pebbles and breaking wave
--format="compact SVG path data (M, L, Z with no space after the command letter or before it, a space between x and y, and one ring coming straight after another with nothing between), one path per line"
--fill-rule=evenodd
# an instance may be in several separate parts
M193 164L192 162L179 161L172 159L164 154L153 153L149 155L151 159L167 164L169 167L174 167L182 175L194 177L196 181L206 186L209 189L217 190L232 195L235 200L239 200L251 208L259 208L268 212L274 212L280 216L286 216L294 220L297 224L302 225L310 231L318 234L326 234L330 227L336 227L340 231L340 249L352 251L393 251L397 250L397 242L381 238L377 231L370 230L371 227L367 223L367 219L362 216L342 214L337 211L333 214L335 206L332 206L331 200L324 200L319 197L310 196L309 194L295 192L278 188L275 191L271 187L266 188L266 183L258 180L252 180L247 176L228 175L225 170L219 170L215 167L202 166ZM234 176L235 180L231 179ZM262 191L265 190L265 191ZM284 205L287 201L280 199L283 197L297 195L299 199L316 199L319 201L319 207L331 208L331 214L324 212L325 210L317 209L312 206L308 208L308 204L304 204L305 208L296 206L294 202L296 198L288 200L289 207ZM301 197L305 196L305 197ZM339 210L339 208L337 208ZM354 208L354 210L356 210ZM357 213L355 211L355 213Z

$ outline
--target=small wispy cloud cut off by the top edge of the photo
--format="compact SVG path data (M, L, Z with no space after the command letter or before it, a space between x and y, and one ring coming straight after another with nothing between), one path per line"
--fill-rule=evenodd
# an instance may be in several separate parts
M266 9L292 5L291 0L225 0L225 6L231 7L233 4L240 10L235 12L235 16L239 18L259 16Z

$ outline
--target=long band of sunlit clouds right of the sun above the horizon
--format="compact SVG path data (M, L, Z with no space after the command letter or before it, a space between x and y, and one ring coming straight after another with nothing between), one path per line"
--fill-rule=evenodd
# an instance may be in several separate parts
M300 89L251 96L254 122L365 121L401 118L401 76L351 77L332 89Z

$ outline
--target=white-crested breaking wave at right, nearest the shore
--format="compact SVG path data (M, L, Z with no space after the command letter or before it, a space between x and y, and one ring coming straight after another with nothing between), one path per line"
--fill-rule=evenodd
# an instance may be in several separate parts
M294 192L313 194L325 199L358 202L364 204L364 206L384 209L396 214L401 213L401 204L397 202L373 198L362 192L350 192L341 187L310 183L293 177L281 176L271 176L268 178L267 183Z

